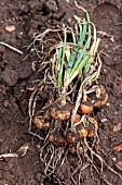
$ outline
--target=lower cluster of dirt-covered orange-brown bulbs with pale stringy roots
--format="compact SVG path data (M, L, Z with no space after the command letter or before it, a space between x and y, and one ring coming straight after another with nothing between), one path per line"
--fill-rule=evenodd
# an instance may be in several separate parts
M92 96L90 96L90 91L87 90L89 94L86 94L89 100L90 97L92 98ZM36 104L38 101L41 101L38 97L39 92L40 88L36 89L30 98L29 112L31 112L31 114L29 132L42 140L40 160L45 166L44 174L51 178L52 175L55 176L56 169L59 168L59 165L62 166L65 162L68 162L72 172L71 180L76 185L81 184L81 174L83 173L83 170L89 166L93 166L100 178L103 178L108 185L111 183L107 180L106 174L104 174L105 166L122 178L122 176L113 169L111 169L104 160L103 152L98 145L98 123L94 118L91 116L91 113L84 114L78 111L74 124L71 126L70 119L73 111L73 104L67 100L64 102L66 103L66 107L64 107L64 103L60 102L60 99L57 99L54 102L51 100L49 101L48 99L46 103L41 108L41 111L36 110ZM66 113L67 110L69 110L69 114ZM52 111L57 111L56 113L59 115L52 115ZM62 118L64 114L65 119ZM43 137L40 137L40 135L31 132L33 123L43 133ZM68 159L68 156L70 156L69 153L72 155L72 157L78 156L78 168L74 169L74 166L70 164ZM100 166L97 164L96 159L99 160ZM58 177L56 181L58 184L62 184Z

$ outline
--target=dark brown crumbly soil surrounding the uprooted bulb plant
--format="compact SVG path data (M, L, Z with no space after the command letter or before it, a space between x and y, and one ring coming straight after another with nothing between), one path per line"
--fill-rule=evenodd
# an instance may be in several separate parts
M106 86L109 100L97 112L99 122L99 146L107 163L122 173L122 151L114 147L122 143L122 4L120 0L79 0L90 11L92 22L101 38L100 50L103 70L100 84ZM73 25L73 15L82 16L73 0L1 0L0 1L0 41L6 42L23 54L0 44L0 155L15 152L23 145L28 146L22 158L0 160L0 185L48 185L58 184L46 178L44 166L39 158L40 140L28 133L28 100L35 87L38 73L33 62L39 61L35 52L28 50L35 34L46 28L58 28L63 24ZM6 26L15 26L13 32ZM51 47L48 42L46 48ZM77 157L69 155L70 163L77 165ZM112 185L121 185L122 180L104 168L107 180ZM72 185L69 163L56 171L63 184ZM82 172L82 183L105 185L92 168Z

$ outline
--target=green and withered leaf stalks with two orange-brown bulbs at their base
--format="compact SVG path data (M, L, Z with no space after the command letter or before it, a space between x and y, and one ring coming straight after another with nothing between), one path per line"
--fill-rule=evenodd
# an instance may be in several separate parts
M51 115L62 121L71 118L71 125L74 124L78 111L81 110L82 113L93 111L93 106L87 106L87 102L82 103L82 99L89 86L98 78L101 69L97 52L100 39L96 36L96 27L90 21L89 12L82 10L86 17L80 18L74 15L77 21L74 29L64 27L64 39L50 50L50 53L54 50L50 61L53 81L57 86L57 102L51 106ZM68 41L69 34L71 42ZM73 100L68 96L71 90Z

